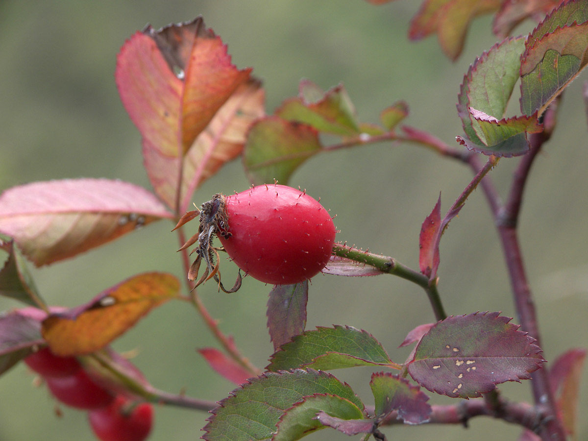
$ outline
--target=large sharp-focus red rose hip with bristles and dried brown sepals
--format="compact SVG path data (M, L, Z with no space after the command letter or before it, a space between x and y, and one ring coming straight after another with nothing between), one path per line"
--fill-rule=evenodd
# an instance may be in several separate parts
M275 285L316 275L325 268L335 242L328 211L306 192L272 184L230 196L218 194L202 205L198 234L183 247L199 241L198 257L188 275L194 280L201 261L206 262L197 285L209 272L208 278L219 281L218 262L213 263L218 253L211 243L215 234L240 269ZM239 282L231 291L238 289Z

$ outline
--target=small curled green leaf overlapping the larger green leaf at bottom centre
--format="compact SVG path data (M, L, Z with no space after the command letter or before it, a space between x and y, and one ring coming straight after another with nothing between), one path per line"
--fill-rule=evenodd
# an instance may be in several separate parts
M329 393L315 393L303 397L302 401L286 409L278 422L278 430L272 441L295 441L319 429L324 429L316 414L326 412L331 416L343 420L362 419L363 412L355 403L331 395Z

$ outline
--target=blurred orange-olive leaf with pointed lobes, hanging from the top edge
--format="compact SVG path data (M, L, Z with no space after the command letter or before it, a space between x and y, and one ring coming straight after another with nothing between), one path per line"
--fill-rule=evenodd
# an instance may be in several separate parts
M500 0L425 0L410 22L409 38L420 40L436 32L443 52L455 61L472 19L499 6Z

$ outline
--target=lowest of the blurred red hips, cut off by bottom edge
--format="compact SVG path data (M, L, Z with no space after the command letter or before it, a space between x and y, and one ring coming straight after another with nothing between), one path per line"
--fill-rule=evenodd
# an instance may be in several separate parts
M125 409L131 403L118 396L111 405L88 412L92 430L102 441L143 441L153 422L153 406L142 403Z

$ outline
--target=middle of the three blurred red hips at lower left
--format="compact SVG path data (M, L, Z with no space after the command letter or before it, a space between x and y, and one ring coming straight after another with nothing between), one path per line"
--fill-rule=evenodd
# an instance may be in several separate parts
M46 377L51 393L62 403L78 409L108 406L114 396L95 383L83 369L66 377Z

